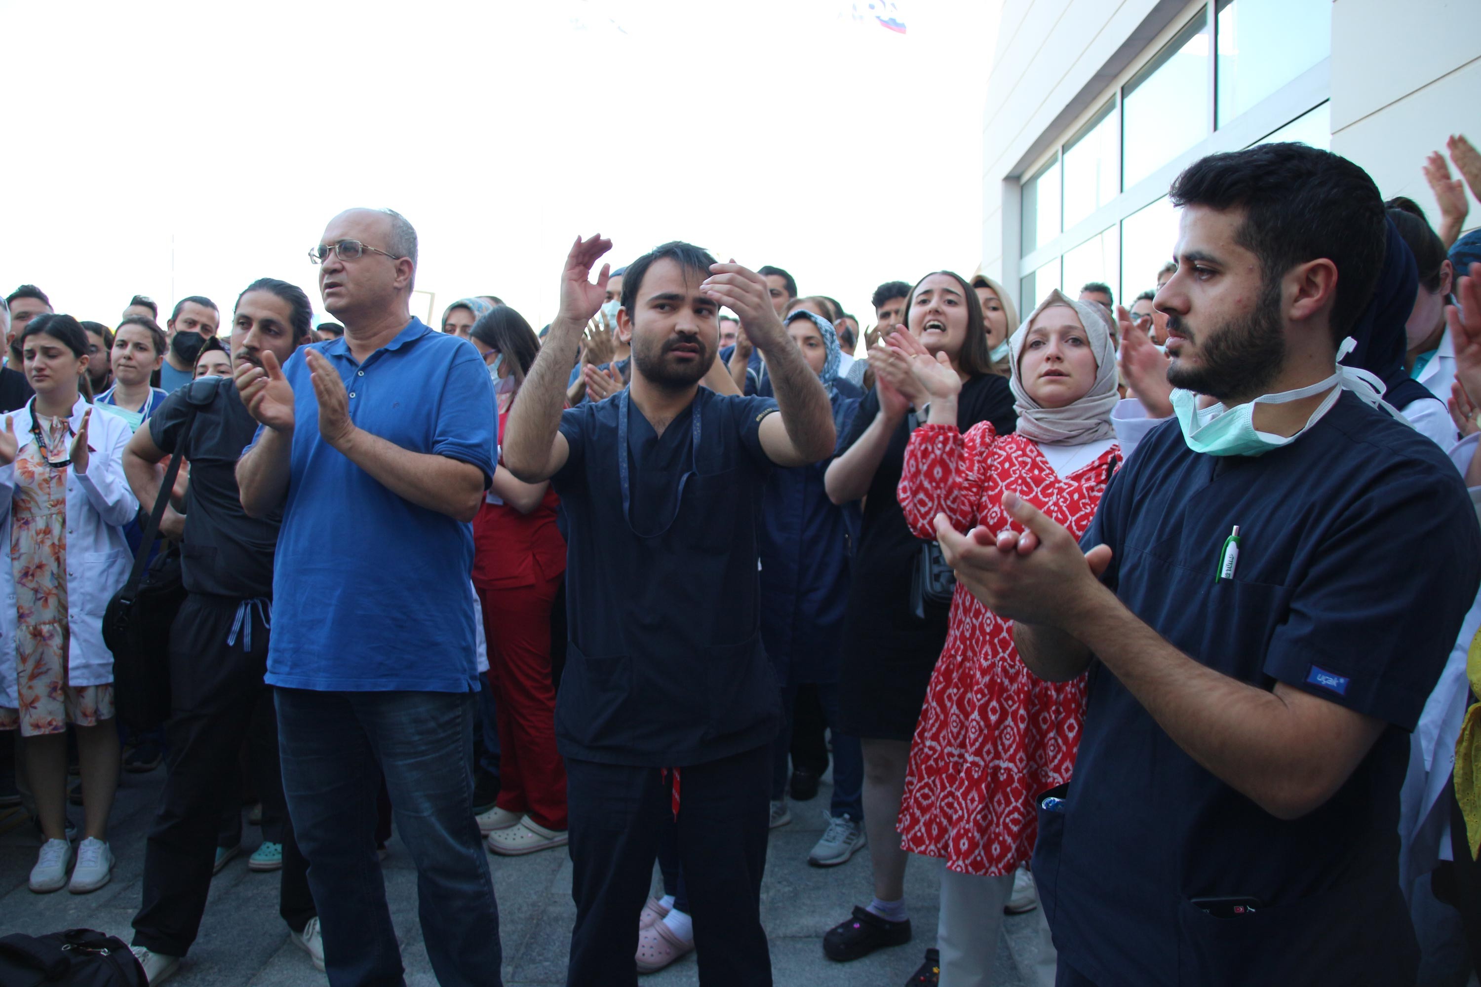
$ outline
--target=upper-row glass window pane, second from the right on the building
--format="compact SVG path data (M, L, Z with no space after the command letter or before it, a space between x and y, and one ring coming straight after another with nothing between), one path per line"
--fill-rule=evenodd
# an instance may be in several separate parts
M1208 111L1208 16L1200 12L1123 89L1123 188L1207 138Z

